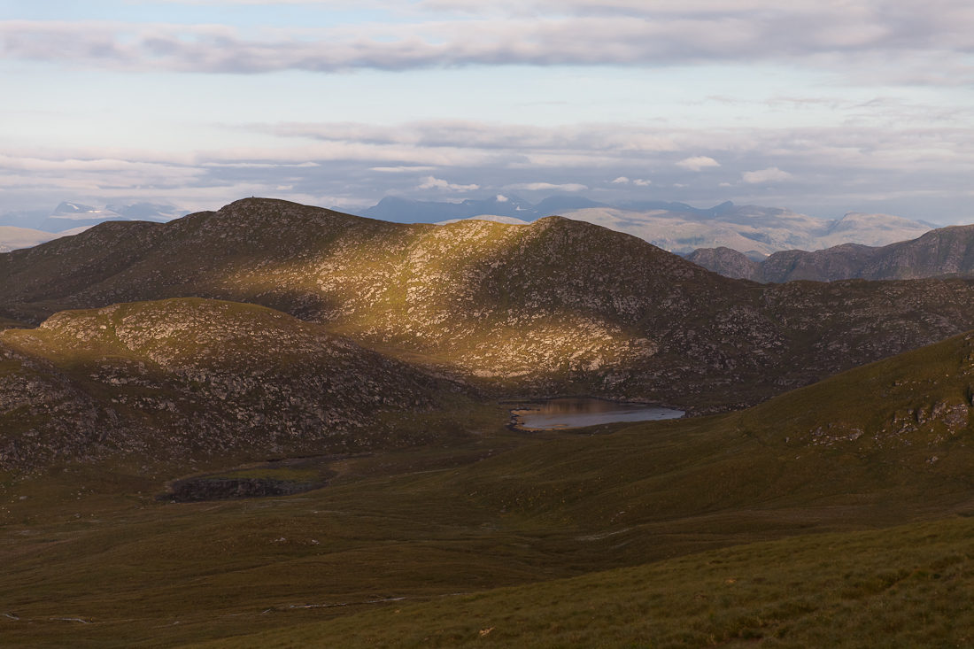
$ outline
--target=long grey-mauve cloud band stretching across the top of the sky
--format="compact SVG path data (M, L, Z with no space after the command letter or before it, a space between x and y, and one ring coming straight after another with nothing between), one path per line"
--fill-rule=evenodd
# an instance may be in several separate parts
M245 33L221 24L4 20L0 57L200 73L790 60L843 74L881 68L917 83L963 86L974 78L966 0L862 0L851 8L840 0L540 2L485 12L463 2L386 6L369 22Z

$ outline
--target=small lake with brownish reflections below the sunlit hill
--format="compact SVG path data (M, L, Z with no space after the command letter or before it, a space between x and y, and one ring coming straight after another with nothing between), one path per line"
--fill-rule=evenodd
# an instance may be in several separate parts
M528 430L582 428L618 421L676 419L684 415L683 410L658 405L605 401L587 397L532 401L513 408L510 412L517 418L517 426Z

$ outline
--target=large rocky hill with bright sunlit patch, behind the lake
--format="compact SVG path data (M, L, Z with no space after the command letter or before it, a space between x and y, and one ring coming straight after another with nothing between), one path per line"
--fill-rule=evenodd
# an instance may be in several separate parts
M0 280L14 320L181 296L256 303L499 396L695 412L974 327L967 281L760 287L557 216L403 225L265 199L104 223L0 255Z

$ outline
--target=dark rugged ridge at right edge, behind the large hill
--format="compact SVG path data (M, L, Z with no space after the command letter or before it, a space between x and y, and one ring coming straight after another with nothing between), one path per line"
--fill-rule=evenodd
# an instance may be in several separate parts
M846 244L813 252L782 250L761 263L730 248L697 249L687 259L726 277L755 282L969 276L974 273L974 225L939 228L882 248Z

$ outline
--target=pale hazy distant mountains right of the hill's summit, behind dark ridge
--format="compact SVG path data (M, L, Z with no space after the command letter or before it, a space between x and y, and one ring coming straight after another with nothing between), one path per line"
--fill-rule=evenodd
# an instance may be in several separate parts
M917 221L888 214L849 212L841 219L827 220L780 208L727 204L718 208L693 212L586 209L561 215L625 232L679 254L697 248L731 248L756 261L777 250L846 243L882 246L929 230Z

